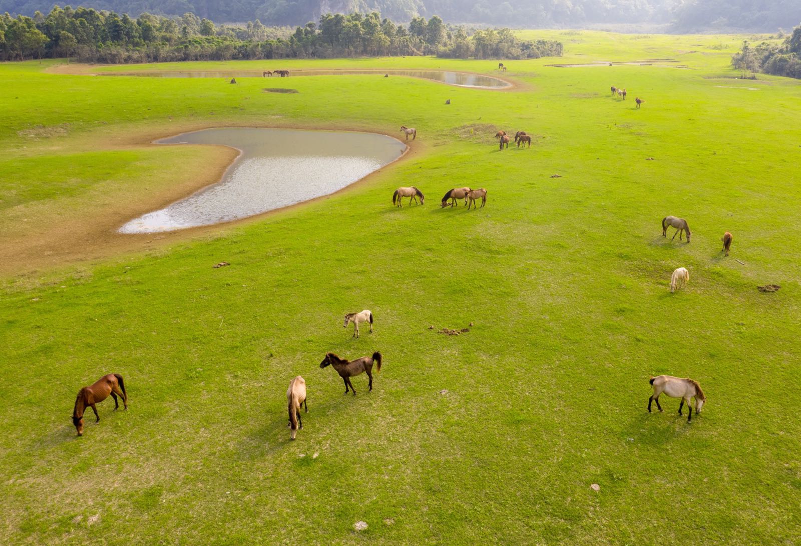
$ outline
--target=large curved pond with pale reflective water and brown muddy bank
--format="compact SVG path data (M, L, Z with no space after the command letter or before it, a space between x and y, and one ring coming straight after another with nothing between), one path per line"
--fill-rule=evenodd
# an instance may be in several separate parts
M155 233L258 215L329 195L403 155L406 145L383 134L231 127L179 134L159 144L216 144L239 157L219 183L119 228Z

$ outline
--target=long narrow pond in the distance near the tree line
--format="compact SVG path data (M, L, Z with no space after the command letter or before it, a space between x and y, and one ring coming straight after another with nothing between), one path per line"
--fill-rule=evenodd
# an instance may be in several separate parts
M151 72L103 72L104 76L144 76L149 78L262 78L261 70L204 70L204 71L151 71ZM437 82L447 83L459 87L477 87L479 89L504 89L512 84L492 76L481 74L468 74L466 72L449 72L447 70L292 70L289 78L297 76L341 76L341 75L372 75L383 78L384 74L390 76L406 76L408 78L433 79ZM272 76L272 80L280 78Z

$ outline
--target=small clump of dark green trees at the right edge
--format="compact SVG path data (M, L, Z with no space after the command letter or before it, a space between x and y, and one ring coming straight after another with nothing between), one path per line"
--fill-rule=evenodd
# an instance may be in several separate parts
M801 78L801 25L778 46L768 42L751 46L744 41L743 48L731 58L731 64L747 72Z

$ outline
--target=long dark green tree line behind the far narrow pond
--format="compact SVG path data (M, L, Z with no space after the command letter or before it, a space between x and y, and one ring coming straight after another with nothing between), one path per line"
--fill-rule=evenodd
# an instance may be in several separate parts
M77 58L81 62L169 62L268 58L438 55L451 58L538 58L562 55L562 43L525 41L509 29L445 25L434 15L396 25L376 12L324 14L295 30L217 26L207 18L60 8L34 17L0 15L0 58Z

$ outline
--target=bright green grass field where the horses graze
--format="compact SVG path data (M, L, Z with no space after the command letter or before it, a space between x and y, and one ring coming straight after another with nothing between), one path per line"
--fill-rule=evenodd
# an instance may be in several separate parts
M521 34L566 54L506 62L509 91L367 75L272 79L299 91L272 94L260 78L0 64L0 543L799 544L801 82L732 79L750 37ZM690 68L545 66L650 58ZM155 135L401 124L412 153L328 199L111 254L70 239L230 159ZM532 149L499 151L498 129ZM393 208L411 185L425 206ZM441 209L463 185L487 188L486 207ZM662 239L665 215L690 244ZM73 258L47 247L55 231ZM20 258L34 242L57 258ZM690 283L670 294L681 266ZM376 331L351 339L342 315L364 308ZM318 366L376 350L355 398ZM75 393L110 372L131 408L107 400L77 438ZM675 399L646 412L662 373L702 384L691 424ZM299 374L309 412L291 442Z

